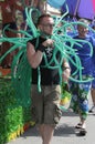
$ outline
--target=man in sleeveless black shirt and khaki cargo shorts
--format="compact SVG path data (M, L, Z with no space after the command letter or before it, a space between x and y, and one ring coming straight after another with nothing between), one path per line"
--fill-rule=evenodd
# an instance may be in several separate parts
M54 40L51 39L53 25L53 18L50 14L42 14L38 20L41 35L29 41L27 47L28 60L32 68L32 117L38 124L42 144L51 144L54 127L61 119L59 68L50 69L45 64L45 60L51 62L53 58ZM56 59L60 63L60 53ZM55 62L52 62L52 66L54 65ZM70 76L70 65L66 61L64 66L67 74L63 73L63 79L66 81ZM41 92L38 90L39 79L41 79Z

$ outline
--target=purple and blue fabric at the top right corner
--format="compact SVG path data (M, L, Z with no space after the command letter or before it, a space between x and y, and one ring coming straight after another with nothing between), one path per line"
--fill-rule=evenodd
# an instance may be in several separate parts
M95 17L95 0L66 0L65 4L62 6L63 12L66 11L66 4L71 16L78 16L89 20Z

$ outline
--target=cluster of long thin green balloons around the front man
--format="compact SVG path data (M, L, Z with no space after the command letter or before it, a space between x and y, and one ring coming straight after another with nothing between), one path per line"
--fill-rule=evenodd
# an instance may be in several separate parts
M14 89L17 91L18 99L20 99L22 96L22 99L24 97L24 99L28 100L28 96L30 97L31 81L32 81L31 80L32 69L31 69L31 66L28 62L28 59L27 59L27 42L29 40L31 40L33 38L38 38L40 35L40 32L36 29L35 24L33 23L33 19L32 19L32 13L34 11L38 13L38 16L40 16L40 12L39 12L38 9L31 8L29 10L28 8L25 8L27 24L29 25L29 28L32 32L32 35L28 31L20 30L19 33L24 34L24 37L22 37L22 38L7 38L7 35L3 33L3 37L0 39L0 42L10 42L10 43L13 44L10 48L10 50L8 50L0 58L0 62L7 56L7 54L9 54L10 52L20 48L18 54L13 59L12 66L11 66L12 82L13 82ZM82 79L82 69L83 68L82 68L80 58L75 54L76 50L73 49L73 45L77 44L77 45L81 47L78 41L84 41L85 43L88 43L89 47L91 47L91 55L93 53L93 48L92 48L92 44L89 42L87 42L85 40L74 40L67 34L67 29L70 27L72 29L74 29L74 25L77 24L76 21L74 21L74 22L65 22L64 21L64 17L67 14L67 12L68 11L66 11L66 13L64 13L61 18L53 16L53 18L55 20L55 25L54 25L54 29L53 29L52 39L55 41L55 43L54 43L55 49L54 49L53 58L51 59L50 62L48 61L48 59L44 54L44 58L45 58L44 68L49 68L49 69L59 68L59 72L60 72L60 76L61 76L61 74L62 74L62 70L61 70L62 62L63 62L63 59L66 59L72 64L74 64L74 66L76 68L75 72L73 73L73 76L77 72L80 73L78 80L74 79L73 76L71 76L70 80L72 80L74 82L88 82L92 79L88 79L88 80ZM82 23L82 24L84 24L84 23ZM8 30L8 29L9 29L9 25L7 25L4 28L4 31ZM18 32L18 31L13 31L13 32ZM68 47L66 44L67 42L71 43L71 47ZM60 63L56 60L56 54L57 54L59 51L61 52ZM75 61L72 60L71 55L73 55L75 58ZM52 66L52 62L55 63L55 66ZM39 85L39 91L41 91L41 88L40 88L40 80L41 80L40 68L38 70L39 70L38 85ZM24 100L24 102L27 102L27 101Z

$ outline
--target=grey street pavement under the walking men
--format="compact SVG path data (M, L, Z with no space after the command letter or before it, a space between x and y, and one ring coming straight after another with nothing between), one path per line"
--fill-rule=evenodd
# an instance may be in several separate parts
M92 100L89 96L91 106ZM86 122L87 133L85 136L78 136L78 131L74 127L78 120L78 115L73 112L63 112L51 144L95 144L95 113L88 114ZM30 127L24 134L7 144L42 144L42 141L36 128Z

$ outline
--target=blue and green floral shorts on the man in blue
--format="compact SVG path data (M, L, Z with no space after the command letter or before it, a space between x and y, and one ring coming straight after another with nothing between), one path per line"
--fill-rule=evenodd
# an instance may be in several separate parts
M87 83L71 82L70 84L71 92L72 92L70 109L72 109L75 113L80 112L83 119L86 119L88 114L88 92L91 85L92 82L87 82Z

